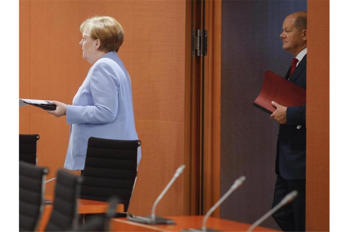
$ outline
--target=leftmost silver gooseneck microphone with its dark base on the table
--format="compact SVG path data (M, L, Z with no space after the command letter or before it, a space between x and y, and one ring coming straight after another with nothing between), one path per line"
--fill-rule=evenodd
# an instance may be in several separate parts
M165 193L169 190L173 182L177 179L177 177L183 172L185 168L185 165L180 166L176 173L174 173L171 181L166 185L165 189L161 192L161 194L156 198L153 208L151 209L151 215L147 217L127 217L129 221L133 222L139 222L139 223L145 223L145 224L174 224L174 221L171 219L166 219L163 217L155 216L155 209L159 201L162 199L162 197L165 195Z

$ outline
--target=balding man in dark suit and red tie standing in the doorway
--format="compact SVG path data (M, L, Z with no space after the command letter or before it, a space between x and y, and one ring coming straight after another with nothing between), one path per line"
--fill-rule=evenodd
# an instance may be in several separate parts
M306 41L307 16L298 11L287 16L280 37L282 48L294 56L285 78L306 88ZM273 214L283 231L305 231L305 105L285 107L272 102L276 107L270 118L280 123L277 141L275 171L277 174L273 207L293 190L297 198Z

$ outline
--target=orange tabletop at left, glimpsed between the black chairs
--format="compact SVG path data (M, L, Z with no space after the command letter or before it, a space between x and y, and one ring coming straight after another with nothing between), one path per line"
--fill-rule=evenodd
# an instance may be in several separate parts
M45 199L53 202L54 197L46 195ZM45 231L46 225L50 219L52 208L53 208L53 204L45 205L38 231ZM108 208L109 208L109 202L77 199L78 214L101 214L101 213L106 213ZM118 204L116 206L115 211L123 212L124 204Z

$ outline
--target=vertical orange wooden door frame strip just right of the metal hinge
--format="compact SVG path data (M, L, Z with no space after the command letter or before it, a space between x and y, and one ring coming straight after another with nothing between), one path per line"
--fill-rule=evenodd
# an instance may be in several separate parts
M220 199L221 170L221 27L222 1L205 2L205 29L209 33L205 56L203 212ZM212 213L220 217L219 207Z

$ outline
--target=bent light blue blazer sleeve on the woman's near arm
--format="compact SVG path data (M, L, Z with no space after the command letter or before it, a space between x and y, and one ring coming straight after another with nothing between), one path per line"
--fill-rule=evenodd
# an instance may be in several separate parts
M115 119L118 110L119 79L107 63L96 64L91 73L90 88L94 105L68 105L68 124L106 124Z

